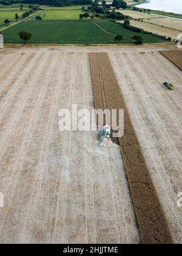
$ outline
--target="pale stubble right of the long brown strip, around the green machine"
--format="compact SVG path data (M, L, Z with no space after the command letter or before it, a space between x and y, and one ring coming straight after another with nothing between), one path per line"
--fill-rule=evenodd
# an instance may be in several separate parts
M109 57L172 236L181 243L182 76L158 50L121 49ZM165 80L174 91L163 86Z

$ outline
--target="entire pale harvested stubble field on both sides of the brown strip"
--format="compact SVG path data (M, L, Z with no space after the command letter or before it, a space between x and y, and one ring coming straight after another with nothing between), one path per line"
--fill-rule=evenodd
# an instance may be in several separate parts
M182 243L182 80L164 49L0 52L1 243L141 243L120 149L103 152L95 132L58 129L60 108L93 107L89 53L97 51L109 54L172 237Z

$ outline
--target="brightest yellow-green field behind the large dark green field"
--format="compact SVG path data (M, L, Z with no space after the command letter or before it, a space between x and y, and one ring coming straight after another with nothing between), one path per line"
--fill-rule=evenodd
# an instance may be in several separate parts
M32 16L41 16L44 20L79 20L81 10L39 10Z

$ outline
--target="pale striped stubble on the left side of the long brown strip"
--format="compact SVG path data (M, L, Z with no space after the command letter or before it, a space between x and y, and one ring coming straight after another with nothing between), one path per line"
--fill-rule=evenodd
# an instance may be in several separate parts
M94 107L87 52L0 54L1 243L141 243L120 149L58 129L60 109Z

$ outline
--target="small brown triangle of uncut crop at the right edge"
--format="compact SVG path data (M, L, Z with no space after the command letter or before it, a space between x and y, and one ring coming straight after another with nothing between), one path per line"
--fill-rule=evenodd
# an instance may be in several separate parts
M160 53L182 71L182 50L161 51Z

